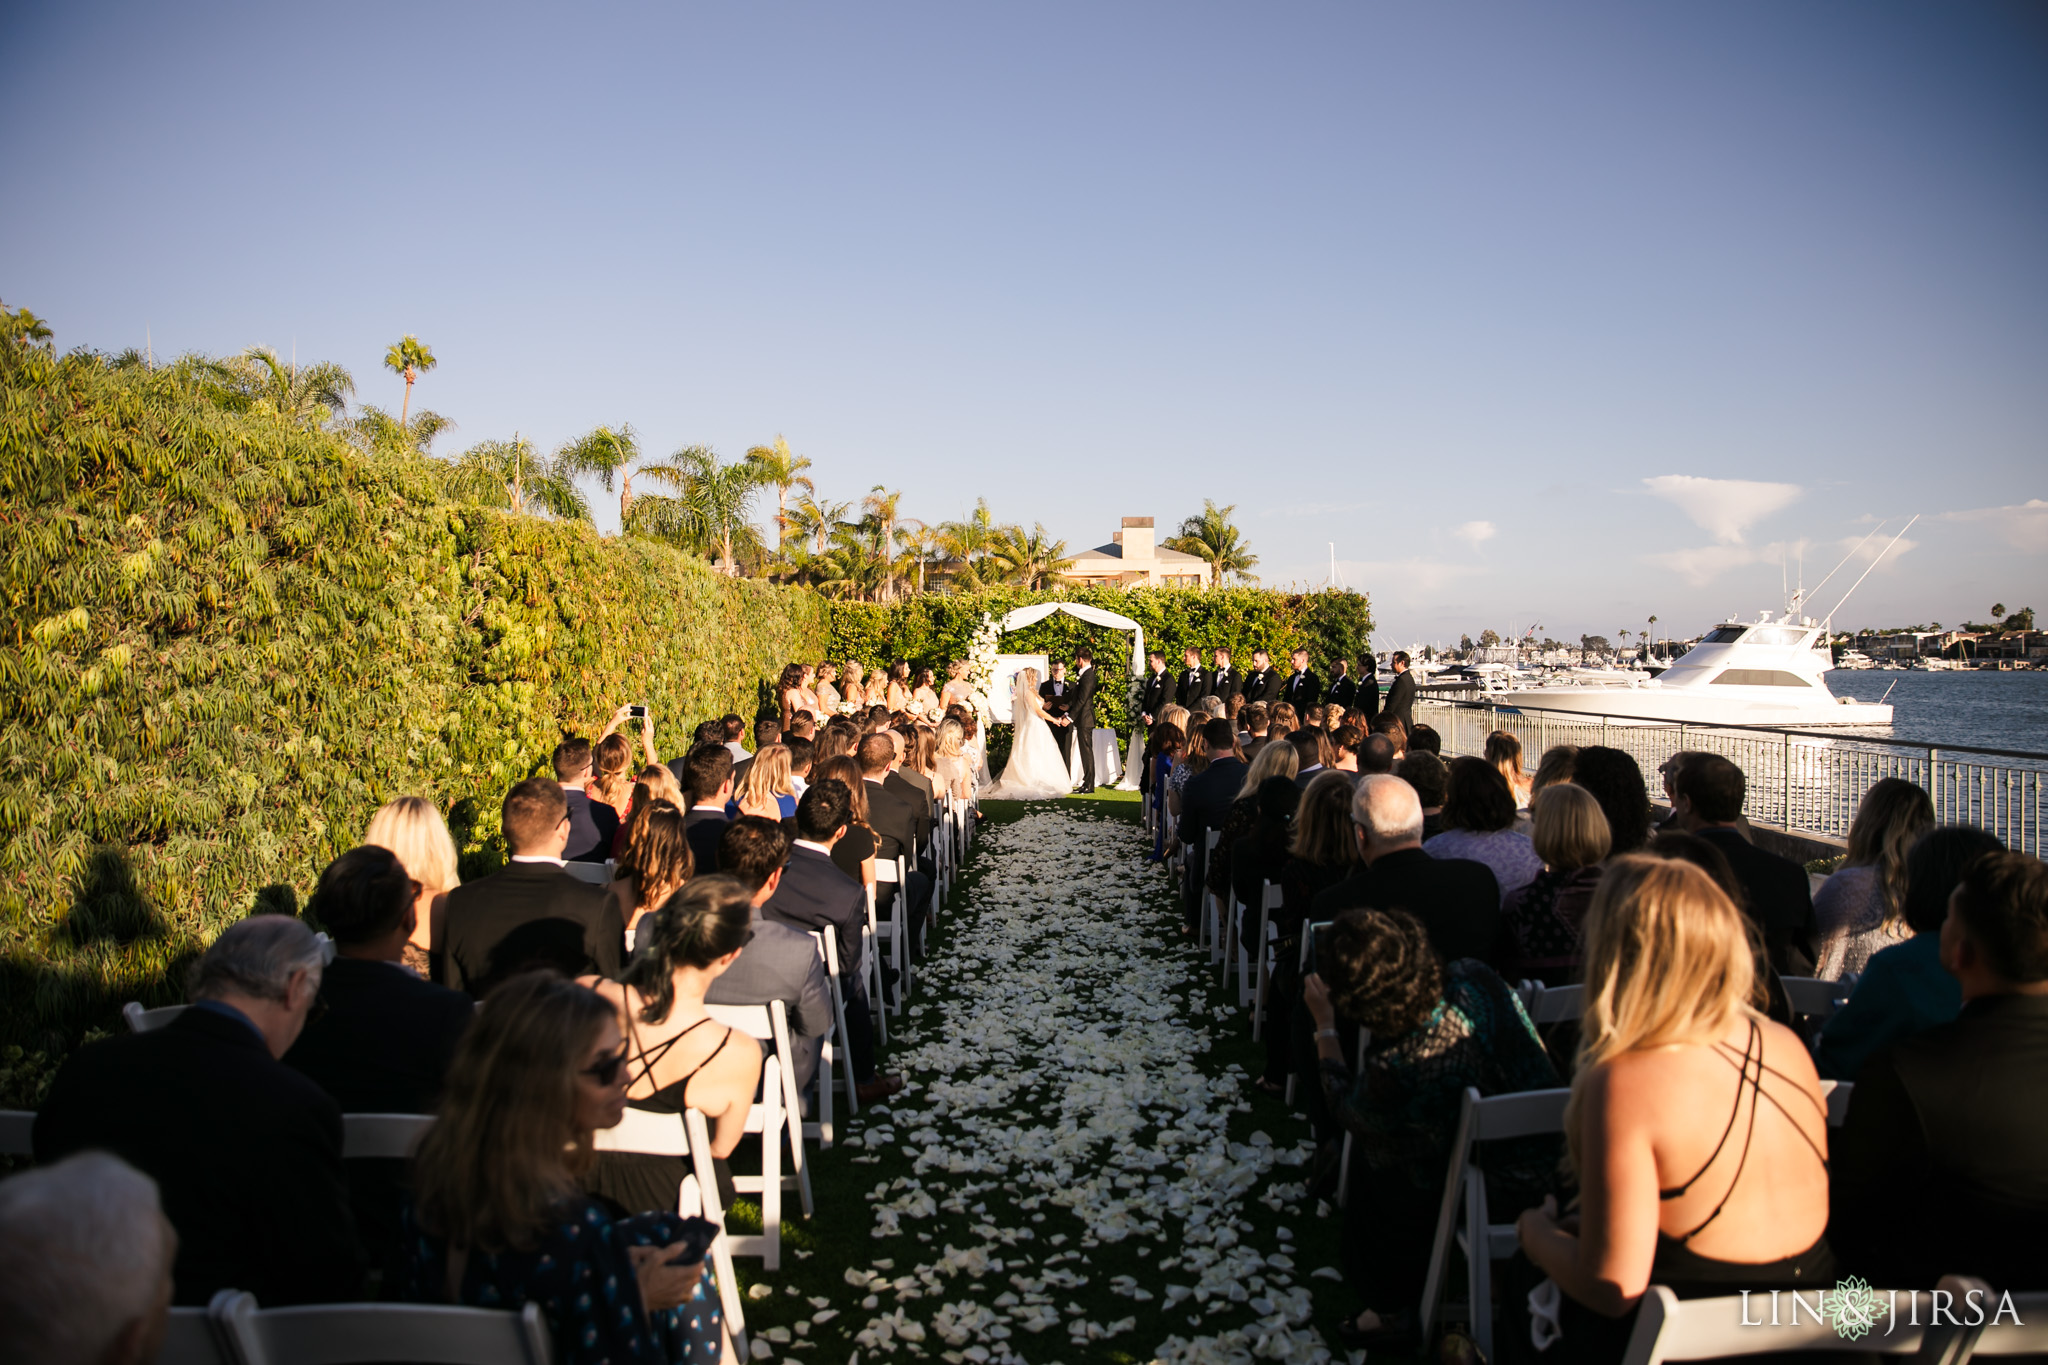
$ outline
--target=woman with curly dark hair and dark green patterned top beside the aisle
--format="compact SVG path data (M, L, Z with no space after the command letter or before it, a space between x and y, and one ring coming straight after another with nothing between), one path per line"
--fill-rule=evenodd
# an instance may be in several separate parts
M1407 911L1343 913L1317 937L1315 958L1303 1003L1315 1019L1319 1091L1358 1144L1343 1269L1366 1312L1339 1338L1413 1353L1413 1308L1466 1087L1540 1091L1559 1083L1556 1070L1507 982L1483 962L1446 964ZM1343 1033L1360 1025L1372 1040L1354 1070ZM1542 1197L1559 1144L1516 1138L1499 1146L1487 1160L1487 1203L1505 1220Z

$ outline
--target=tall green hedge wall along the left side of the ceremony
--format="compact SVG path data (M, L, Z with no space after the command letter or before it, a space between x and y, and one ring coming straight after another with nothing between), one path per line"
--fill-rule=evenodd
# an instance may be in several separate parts
M0 346L0 1042L176 999L395 794L481 872L565 731L643 700L666 757L825 649L813 593L436 487L190 366ZM29 1070L0 1054L0 1089Z

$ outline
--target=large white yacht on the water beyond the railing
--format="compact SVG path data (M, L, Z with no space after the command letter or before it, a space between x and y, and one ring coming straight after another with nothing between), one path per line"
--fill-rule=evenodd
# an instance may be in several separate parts
M1792 612L1726 620L1647 681L1610 688L1526 688L1505 700L1616 720L1683 724L1890 724L1884 704L1827 690L1833 659L1821 622Z

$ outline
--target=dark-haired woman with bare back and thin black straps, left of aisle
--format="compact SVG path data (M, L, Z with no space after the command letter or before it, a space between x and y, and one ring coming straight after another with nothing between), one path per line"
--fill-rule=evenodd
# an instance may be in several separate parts
M705 993L739 958L752 917L745 886L717 872L700 876L647 919L618 980L582 982L610 1001L625 1025L627 1105L649 1113L696 1109L711 1124L711 1154L719 1160L745 1132L762 1046L713 1019ZM604 1152L588 1185L629 1214L645 1214L676 1207L686 1173L682 1156Z

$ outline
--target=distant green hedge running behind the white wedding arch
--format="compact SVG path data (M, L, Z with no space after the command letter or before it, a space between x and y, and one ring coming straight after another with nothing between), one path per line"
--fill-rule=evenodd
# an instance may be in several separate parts
M842 602L831 610L831 657L887 663L909 659L944 669L946 659L965 659L981 614L995 620L1032 602L1085 602L1128 616L1145 626L1145 647L1165 651L1167 669L1180 667L1188 645L1202 651L1229 649L1239 669L1251 667L1251 651L1268 649L1276 667L1286 667L1286 655L1296 645L1307 647L1313 667L1329 677L1327 659L1358 661L1372 636L1372 610L1364 593L1317 591L1284 593L1262 587L1221 587L1194 591L1186 587L1055 587L1042 591L995 589L952 598L924 596L895 604ZM1073 651L1092 645L1102 671L1098 712L1108 724L1124 726L1126 690L1110 686L1130 669L1130 632L1092 626L1065 612L1055 612L1034 626L1004 636L1004 651L1016 655L1047 653L1073 659Z

